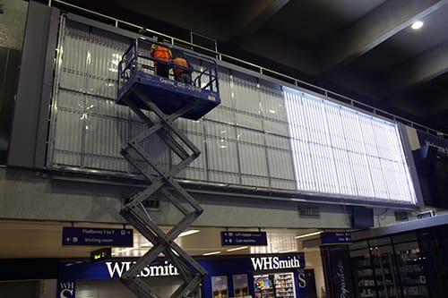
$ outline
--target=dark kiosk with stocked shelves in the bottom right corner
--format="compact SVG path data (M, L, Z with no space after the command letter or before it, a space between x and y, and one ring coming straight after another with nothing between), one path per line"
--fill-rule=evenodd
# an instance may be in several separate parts
M392 294L400 298L448 297L448 214L437 211L435 217L359 230L352 232L351 239L351 273L357 286L350 298L392 298ZM383 262L374 263L375 258ZM375 274L375 264L383 264L382 274ZM393 286L386 286L391 289L388 291L378 287L383 279L384 285L391 281L396 285L394 293Z

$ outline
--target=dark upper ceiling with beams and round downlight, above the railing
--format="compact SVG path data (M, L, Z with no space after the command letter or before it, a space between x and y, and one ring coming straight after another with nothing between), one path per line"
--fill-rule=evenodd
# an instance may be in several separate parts
M446 0L67 2L175 38L193 31L223 54L448 132Z

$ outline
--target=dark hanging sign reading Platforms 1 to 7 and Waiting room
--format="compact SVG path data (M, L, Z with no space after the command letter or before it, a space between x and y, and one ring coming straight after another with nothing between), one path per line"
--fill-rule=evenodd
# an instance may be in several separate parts
M62 230L63 245L134 246L132 229L70 227Z

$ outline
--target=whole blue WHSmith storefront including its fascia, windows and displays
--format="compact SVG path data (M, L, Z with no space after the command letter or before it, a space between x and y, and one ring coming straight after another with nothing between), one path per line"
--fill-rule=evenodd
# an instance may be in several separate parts
M197 260L208 275L203 279L203 298L256 297L305 298L307 281L303 253L257 255ZM119 278L134 260L98 263L61 263L57 280L60 298L127 298L134 294ZM144 268L141 277L162 297L168 297L183 280L168 260L158 260Z

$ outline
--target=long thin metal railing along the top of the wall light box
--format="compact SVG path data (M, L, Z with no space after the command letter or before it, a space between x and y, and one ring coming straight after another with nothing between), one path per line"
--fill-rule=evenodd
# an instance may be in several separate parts
M275 79L280 80L280 81L285 81L285 82L288 82L288 83L292 83L292 84L296 85L297 87L301 87L301 88L304 88L304 89L307 89L307 88L312 89L314 92L319 93L319 94L323 95L326 98L332 98L334 100L338 100L340 102L344 102L345 104L348 104L349 106L356 106L357 108L361 108L361 109L364 109L364 110L368 111L369 113L373 113L375 115L380 115L382 117L388 118L388 119L390 119L390 120L392 120L394 122L404 123L404 124L406 124L406 125L408 125L410 127L419 129L419 130L424 131L424 132L432 133L432 134L435 134L435 135L437 135L439 137L443 137L443 138L447 138L448 139L448 134L446 134L444 132L439 132L439 131L437 131L437 130L435 130L433 128L430 128L430 127L428 127L426 125L423 125L423 124L420 124L420 123L415 123L415 122L413 122L413 121L411 121L409 119L406 119L406 118L398 116L398 115L393 115L393 114L391 114L391 113L389 113L389 112L387 112L387 111L385 111L383 109L377 108L375 106L367 105L366 103L360 102L360 101L355 100L353 98L346 97L346 96L341 95L341 94L339 94L337 92L333 92L331 90L324 89L322 87L316 86L316 85L308 83L306 81L298 80L297 78L291 77L291 76L289 76L287 74L273 71L273 70L271 70L269 68L263 67L263 66L258 65L258 64L253 64L253 63L247 62L247 61L242 60L242 59L238 59L237 57L234 57L234 56L231 56L231 55L226 55L226 54L220 53L219 50L218 50L217 42L214 39L212 39L212 38L209 38L209 39L214 41L214 48L213 49L208 48L208 47L202 47L201 45L194 44L193 43L193 38L192 38L193 35L201 36L202 38L207 38L207 37L204 37L201 34L196 34L194 32L190 32L190 39L191 40L187 41L187 40L184 40L184 39L181 39L181 38L171 37L171 36L169 36L169 35L167 35L165 33L162 33L162 32L156 31L156 30L147 29L147 28L145 28L143 26L136 25L136 24L134 24L132 22L129 22L129 21L123 21L123 20L116 19L114 17L108 16L108 15L103 14L103 13L97 13L97 12L94 12L94 11L90 11L89 9L83 8L83 7L78 6L78 5L69 4L69 3L66 3L65 1L48 0L48 5L49 6L55 6L57 8L61 8L61 9L64 9L64 8L65 9L72 9L72 10L75 10L75 11L78 11L78 12L81 12L81 13L88 13L90 15L95 15L95 16L99 17L100 19L102 19L104 22L110 22L116 28L120 28L120 24L123 24L123 25L129 26L131 28L134 28L135 30L144 30L145 32L148 32L148 33L151 33L151 34L163 37L163 38L167 38L168 40L170 40L171 45L175 45L175 44L176 45L183 45L184 47L187 47L187 48L192 48L192 49L195 48L195 49L204 51L208 55L214 56L214 57L216 57L220 61L227 61L229 63L235 62L237 64L242 64L242 65L246 66L248 69L256 69L257 72L259 72L259 73L261 73L263 75L266 75L268 77L275 78ZM275 75L275 76L272 76L272 75Z

